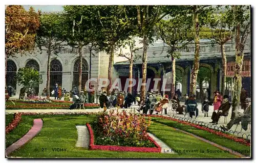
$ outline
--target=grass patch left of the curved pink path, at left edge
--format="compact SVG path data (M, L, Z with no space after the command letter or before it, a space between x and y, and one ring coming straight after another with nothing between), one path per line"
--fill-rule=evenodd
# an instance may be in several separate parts
M20 138L22 138L33 126L34 119L34 116L22 116L22 120L20 120L17 127L5 135L6 147L9 147Z

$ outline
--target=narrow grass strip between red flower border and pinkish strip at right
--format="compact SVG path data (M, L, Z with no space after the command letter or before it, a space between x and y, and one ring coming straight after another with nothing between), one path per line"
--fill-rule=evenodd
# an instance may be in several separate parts
M250 151L249 146L240 144L238 142L234 142L234 141L232 141L230 139L227 139L227 138L224 138L224 137L220 137L220 136L218 136L216 134L213 134L213 133L210 133L208 131L198 129L198 128L195 128L195 127L192 127L192 126L189 126L189 125L184 125L184 124L172 121L172 120L162 119L162 118L155 118L154 117L154 118L152 118L152 121L158 122L158 123L161 123L161 124L165 124L165 125L170 126L170 127L178 128L178 129L181 129L183 131L187 131L187 132L190 132L190 133L193 133L193 134L196 134L201 138L204 138L208 141L217 143L221 146L227 147L227 148L232 149L232 150L244 151L244 153L242 152L241 154L246 155L246 156L250 156L250 153L246 152L246 151Z

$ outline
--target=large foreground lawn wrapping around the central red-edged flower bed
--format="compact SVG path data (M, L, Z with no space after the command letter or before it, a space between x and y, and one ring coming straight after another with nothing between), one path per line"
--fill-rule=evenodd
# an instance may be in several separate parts
M116 152L93 151L75 147L77 142L76 125L91 123L95 115L40 115L27 116L25 120L42 118L44 125L28 144L10 154L13 157L55 158L55 157L96 157L96 158L233 158L229 153L200 153L200 149L218 150L208 143L200 141L190 135L174 130L167 125L153 122L150 132L155 134L169 147L180 150L198 150L198 153L181 152L176 154L166 153L142 153L142 152ZM26 122L25 122L26 123ZM20 126L19 126L20 127ZM182 140L182 141L181 141ZM66 148L67 151L53 151L53 148ZM44 151L42 151L44 149ZM46 149L46 150L45 150Z

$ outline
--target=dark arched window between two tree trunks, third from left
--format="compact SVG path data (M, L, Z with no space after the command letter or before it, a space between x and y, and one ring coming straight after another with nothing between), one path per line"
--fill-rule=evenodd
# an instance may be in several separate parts
M62 65L56 59L51 61L50 92L53 90L55 84L58 84L58 86L62 86Z

